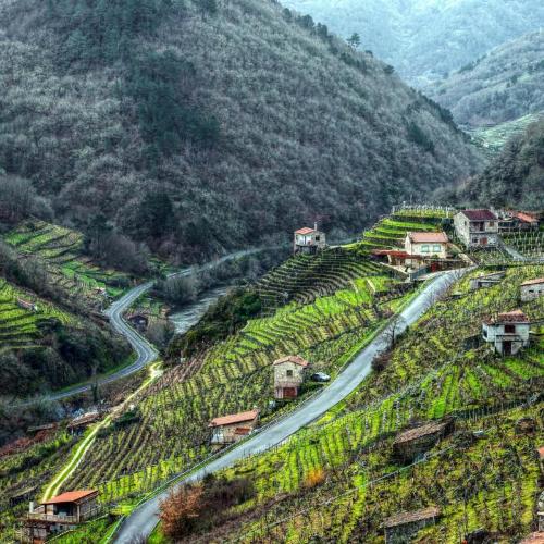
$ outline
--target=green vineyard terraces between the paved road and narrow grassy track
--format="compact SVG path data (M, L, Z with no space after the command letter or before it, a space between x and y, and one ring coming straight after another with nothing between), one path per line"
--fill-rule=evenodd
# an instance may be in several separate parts
M364 259L358 259L364 271ZM168 372L135 403L128 424L101 431L65 487L98 486L107 502L129 498L208 455L212 417L252 406L262 409L264 420L274 417L277 409L268 407L272 362L298 354L316 370L334 375L401 299L396 285L387 276L361 275L344 288L330 287L334 294L311 304L293 301L250 321L203 356ZM305 395L316 387L308 384Z

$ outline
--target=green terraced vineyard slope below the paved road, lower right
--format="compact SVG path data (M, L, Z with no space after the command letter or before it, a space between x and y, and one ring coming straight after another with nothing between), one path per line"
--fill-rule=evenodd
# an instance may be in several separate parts
M534 447L543 438L542 404L526 410L537 419L539 434L516 441L512 422L521 411L511 406L542 391L544 341L541 336L519 356L504 359L486 345L462 346L479 333L484 316L518 307L519 284L543 272L544 267L510 269L500 285L471 294L470 279L462 280L453 290L465 295L433 307L399 341L386 369L372 374L330 417L228 470L230 477L252 478L258 490L255 499L232 512L239 522L230 526L228 537L309 542L326 535L348 542L366 534L373 542L386 516L429 504L438 504L446 514L436 530L445 536L432 530L431 542L458 542L465 515L468 530L484 526L502 534L528 532L539 473ZM541 305L522 307L532 319L544 318ZM490 410L503 413L485 417ZM366 486L400 468L390 455L396 433L411 421L448 415L458 417L458 429L487 429L485 440L465 445L449 440L429 462ZM438 455L442 449L446 452ZM316 473L323 473L325 482L312 489L308 482ZM415 481L421 483L415 486ZM263 505L265 517L256 514ZM301 516L275 524L300 510ZM226 539L221 532L212 536Z

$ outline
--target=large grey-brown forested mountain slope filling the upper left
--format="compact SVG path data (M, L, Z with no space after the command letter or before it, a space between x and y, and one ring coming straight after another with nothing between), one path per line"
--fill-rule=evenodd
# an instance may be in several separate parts
M267 0L0 0L0 168L174 260L354 231L481 161L386 65Z

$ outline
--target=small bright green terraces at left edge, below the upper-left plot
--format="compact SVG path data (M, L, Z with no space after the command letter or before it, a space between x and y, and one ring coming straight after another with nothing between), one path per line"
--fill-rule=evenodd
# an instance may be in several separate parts
M53 320L74 323L73 317L52 304L0 279L0 350L35 347L40 327Z

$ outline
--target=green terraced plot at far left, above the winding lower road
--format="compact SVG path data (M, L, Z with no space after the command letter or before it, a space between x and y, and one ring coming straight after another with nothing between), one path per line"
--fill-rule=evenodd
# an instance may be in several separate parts
M59 289L74 299L82 297L96 305L99 289L106 288L112 297L120 295L128 284L124 273L103 270L83 254L83 235L44 221L27 221L4 236L22 256L32 255L47 264Z

